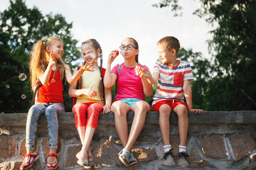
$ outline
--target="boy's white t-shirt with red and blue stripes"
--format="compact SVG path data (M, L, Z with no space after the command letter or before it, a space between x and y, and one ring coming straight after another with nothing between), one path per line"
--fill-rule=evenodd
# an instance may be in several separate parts
M154 72L159 72L160 76L152 105L158 101L183 99L183 81L193 81L191 65L186 61L178 60L178 64L171 68L157 60Z

